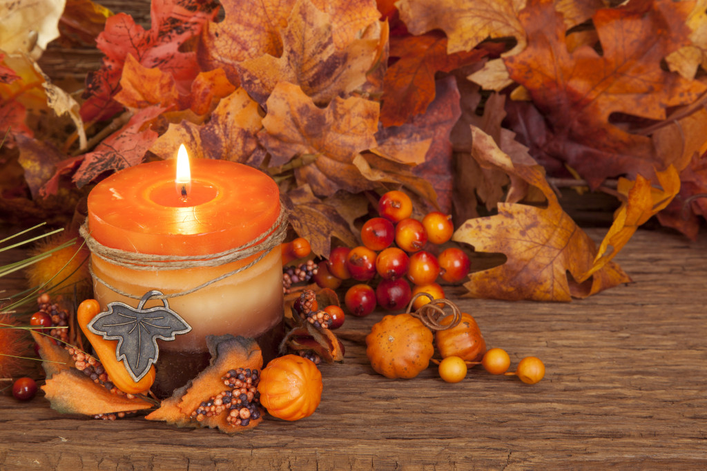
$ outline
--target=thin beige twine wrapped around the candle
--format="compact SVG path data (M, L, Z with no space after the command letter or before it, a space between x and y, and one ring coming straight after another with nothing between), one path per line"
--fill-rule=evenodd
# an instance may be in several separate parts
M192 289L180 291L178 293L164 294L162 296L154 296L155 299L168 299L194 293L194 291L199 291L199 289L205 288L206 286L221 281L222 279L226 279L237 273L243 272L244 270L257 264L257 262L268 255L271 250L278 248L284 240L287 233L287 211L284 205L281 205L280 214L273 225L268 228L267 231L264 231L264 233L257 236L254 240L250 240L250 242L240 245L239 247L206 255L155 255L110 248L101 244L90 235L86 222L84 222L83 226L79 229L79 233L81 233L81 236L86 240L86 245L88 245L88 248L93 255L101 260L105 260L105 262L134 270L161 271L195 267L218 267L230 262L245 260L247 257L251 257L252 255L262 252L258 257L248 264L245 264L243 267L224 273L220 277L206 281L199 286L194 286ZM126 291L122 291L121 289L107 283L107 281L98 277L98 275L93 272L90 264L88 270L95 281L103 284L111 291L131 299L141 298L141 296L127 293Z

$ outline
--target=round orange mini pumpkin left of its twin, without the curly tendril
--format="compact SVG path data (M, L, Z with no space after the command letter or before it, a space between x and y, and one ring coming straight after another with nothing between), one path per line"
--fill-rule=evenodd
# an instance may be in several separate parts
M430 364L432 332L407 313L386 315L366 336L366 356L386 378L414 378Z

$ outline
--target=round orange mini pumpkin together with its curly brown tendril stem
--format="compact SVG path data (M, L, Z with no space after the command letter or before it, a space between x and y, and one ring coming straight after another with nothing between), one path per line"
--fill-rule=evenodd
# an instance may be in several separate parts
M459 308L447 299L436 299L411 313L419 293L411 299L406 313L386 315L373 325L366 336L366 356L376 373L386 378L414 378L430 364L434 354L431 330L455 327L461 319ZM452 308L452 319L440 325L438 318L445 315L443 306Z

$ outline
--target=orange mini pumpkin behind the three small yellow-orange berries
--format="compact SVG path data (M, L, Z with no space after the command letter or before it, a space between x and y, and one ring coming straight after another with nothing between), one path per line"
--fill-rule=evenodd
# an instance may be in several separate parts
M449 325L452 316L440 320L440 325ZM486 342L481 336L477 321L467 313L462 313L462 320L455 327L435 332L435 343L442 358L459 356L466 361L481 361L486 353Z

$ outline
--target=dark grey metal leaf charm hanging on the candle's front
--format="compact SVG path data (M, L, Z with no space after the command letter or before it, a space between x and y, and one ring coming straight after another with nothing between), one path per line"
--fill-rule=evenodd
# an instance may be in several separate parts
M192 330L179 314L170 309L166 299L162 300L164 306L143 308L149 298L161 295L160 291L148 291L137 308L117 301L108 303L108 310L88 323L88 330L94 334L118 341L115 358L123 362L135 382L157 361L157 339L174 340L175 335Z

